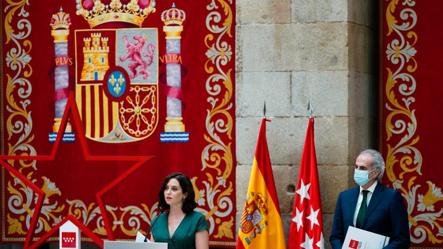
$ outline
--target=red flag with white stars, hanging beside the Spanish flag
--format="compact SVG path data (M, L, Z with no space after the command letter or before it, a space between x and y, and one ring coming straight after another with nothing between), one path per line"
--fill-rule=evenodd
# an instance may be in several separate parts
M314 118L309 118L292 210L288 249L293 248L324 249L322 203L314 144Z

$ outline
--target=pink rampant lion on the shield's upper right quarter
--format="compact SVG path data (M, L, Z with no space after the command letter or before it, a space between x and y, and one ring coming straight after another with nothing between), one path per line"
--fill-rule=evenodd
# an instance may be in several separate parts
M119 57L121 62L131 59L133 63L128 65L129 70L132 72L132 75L129 75L131 79L137 76L137 73L144 75L143 79L149 78L150 72L147 70L147 67L150 66L154 61L154 51L155 46L152 43L147 44L146 53L143 54L144 57L147 57L147 61L144 61L141 57L141 54L144 49L144 44L146 43L147 37L142 35L134 36L134 43L129 43L127 36L123 36L123 42L126 45L127 54L124 57ZM137 67L138 72L137 72Z

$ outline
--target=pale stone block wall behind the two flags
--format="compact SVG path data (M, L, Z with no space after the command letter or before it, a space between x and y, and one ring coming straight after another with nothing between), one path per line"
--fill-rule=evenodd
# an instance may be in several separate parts
M266 101L286 241L311 99L326 248L358 152L377 148L378 1L237 0L237 227Z

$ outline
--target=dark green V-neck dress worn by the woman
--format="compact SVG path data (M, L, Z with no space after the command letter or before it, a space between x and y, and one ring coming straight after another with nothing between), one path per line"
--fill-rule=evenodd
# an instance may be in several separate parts
M203 214L192 211L187 213L178 225L172 237L169 237L168 229L169 212L155 217L159 221L151 229L156 242L167 242L169 249L195 249L195 233L203 229L208 230L208 224Z

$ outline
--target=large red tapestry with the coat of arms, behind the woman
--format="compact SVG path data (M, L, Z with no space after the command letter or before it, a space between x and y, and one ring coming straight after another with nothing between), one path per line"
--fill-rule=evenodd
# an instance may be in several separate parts
M0 242L56 240L67 217L85 241L134 239L182 172L210 244L235 246L235 1L0 9Z

